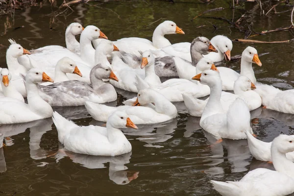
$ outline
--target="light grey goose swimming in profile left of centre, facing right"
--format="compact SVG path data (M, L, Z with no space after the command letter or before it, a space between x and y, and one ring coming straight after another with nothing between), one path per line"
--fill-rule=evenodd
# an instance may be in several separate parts
M118 80L111 68L98 64L90 73L91 85L77 80L54 83L48 86L39 85L40 96L51 106L84 105L85 101L105 103L115 101L117 93L111 84L102 79Z

